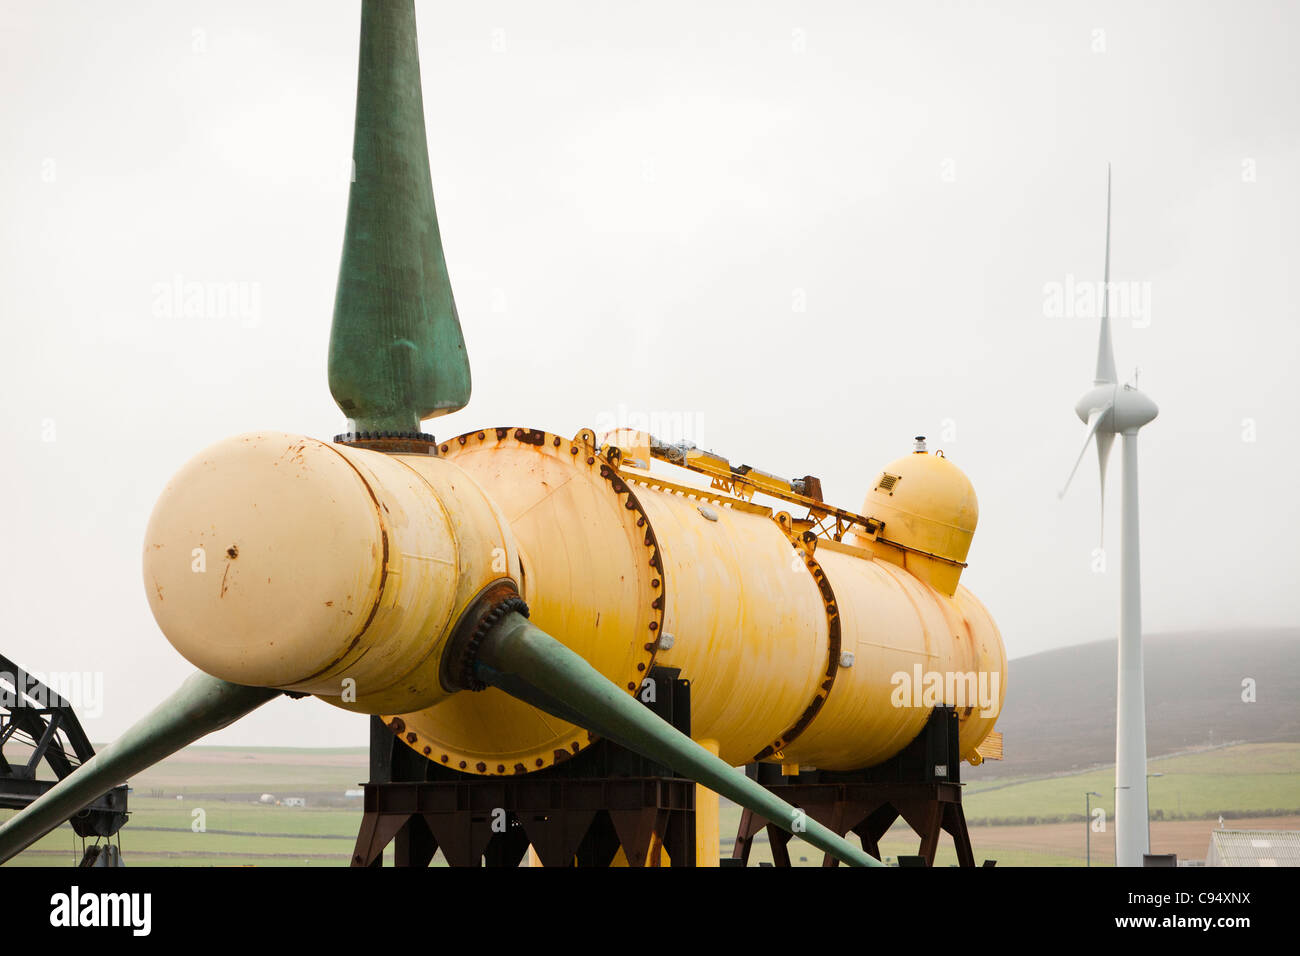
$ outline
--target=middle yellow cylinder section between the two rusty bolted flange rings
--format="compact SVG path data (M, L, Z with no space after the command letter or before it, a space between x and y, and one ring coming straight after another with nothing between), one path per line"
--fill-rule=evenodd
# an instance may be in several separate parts
M751 761L812 702L827 665L827 614L776 523L633 481L664 559L655 663L690 680L692 736L728 763Z

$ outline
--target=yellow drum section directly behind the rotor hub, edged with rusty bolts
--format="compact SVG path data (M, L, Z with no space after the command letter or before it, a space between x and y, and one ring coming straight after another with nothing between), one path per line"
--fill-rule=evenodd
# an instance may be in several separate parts
M500 506L523 553L529 619L629 693L663 627L659 550L630 488L586 441L519 428L439 445ZM478 774L551 766L590 744L572 723L488 688L389 726L430 760Z

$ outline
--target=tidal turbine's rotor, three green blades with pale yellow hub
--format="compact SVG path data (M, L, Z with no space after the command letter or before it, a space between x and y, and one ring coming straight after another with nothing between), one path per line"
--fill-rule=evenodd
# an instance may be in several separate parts
M173 479L146 533L144 578L164 633L170 631L168 639L200 670L0 825L0 862L100 793L281 693L324 695L381 715L471 685L499 688L619 741L842 862L880 866L529 622L516 596L519 546L500 510L419 431L424 420L465 406L471 375L433 203L413 0L361 4L352 150L356 173L329 350L330 392L351 431L334 445L250 433L221 444L216 457L198 457ZM608 470L594 436L592 445L575 441L573 459ZM399 460L404 453L415 453L410 467ZM289 473L300 480L286 484ZM355 505L358 494L374 505L373 514L350 516L325 505L350 496ZM168 555L203 546L204 524L233 536L234 544L222 545L222 579L233 580L220 589L207 585L207 575L169 578L179 563ZM274 581L264 563L273 553L282 568ZM504 574L497 572L498 561ZM251 576L254 568L265 584ZM240 576L254 588L228 593ZM361 604L355 611L332 607L334 601L316 600L322 587ZM348 687L358 688L352 702Z

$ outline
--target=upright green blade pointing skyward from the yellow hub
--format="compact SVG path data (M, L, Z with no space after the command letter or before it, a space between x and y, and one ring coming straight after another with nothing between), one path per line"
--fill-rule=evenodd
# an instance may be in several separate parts
M355 174L329 388L359 432L419 432L469 402L429 176L413 0L363 0Z

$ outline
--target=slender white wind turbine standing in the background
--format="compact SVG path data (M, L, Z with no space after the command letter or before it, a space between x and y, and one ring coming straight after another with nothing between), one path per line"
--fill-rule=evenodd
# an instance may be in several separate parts
M1105 516L1106 459L1115 436L1123 437L1123 493L1119 551L1119 683L1115 713L1115 866L1141 866L1147 842L1147 709L1141 666L1141 574L1138 548L1138 429L1156 418L1156 403L1135 385L1119 385L1110 342L1110 168L1106 166L1106 271L1101 295L1101 336L1092 390L1074 406L1088 425L1083 451L1065 496L1093 438L1101 466Z

